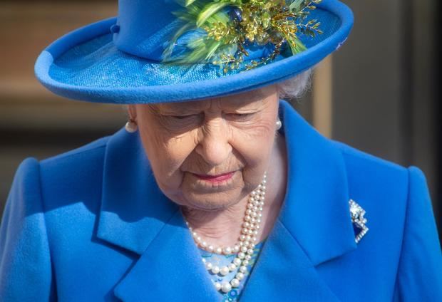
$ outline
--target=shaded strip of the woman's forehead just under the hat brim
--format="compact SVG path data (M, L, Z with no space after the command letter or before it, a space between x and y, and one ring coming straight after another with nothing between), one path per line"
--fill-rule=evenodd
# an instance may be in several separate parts
M216 108L259 108L265 105L275 93L272 87L246 91L244 93L236 93L234 95L225 95L220 98L206 98L204 100L192 100L180 103L160 103L160 110L203 110L215 106Z

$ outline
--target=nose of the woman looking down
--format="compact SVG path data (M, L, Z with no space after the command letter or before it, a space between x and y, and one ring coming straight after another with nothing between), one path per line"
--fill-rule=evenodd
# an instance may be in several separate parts
M222 165L232 152L225 120L213 118L205 121L199 132L195 151L212 166Z

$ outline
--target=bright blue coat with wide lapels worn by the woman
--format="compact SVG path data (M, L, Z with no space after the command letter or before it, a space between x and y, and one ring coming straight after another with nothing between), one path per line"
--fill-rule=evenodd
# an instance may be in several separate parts
M288 103L280 109L287 192L241 301L442 301L421 170L329 140ZM349 199L366 210L358 244ZM0 228L0 301L219 298L138 132L21 163Z

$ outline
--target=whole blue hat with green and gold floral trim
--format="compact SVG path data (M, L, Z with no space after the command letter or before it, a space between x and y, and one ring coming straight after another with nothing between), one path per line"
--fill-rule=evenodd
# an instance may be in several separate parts
M284 11L293 18L275 15ZM274 20L297 28L288 32ZM78 28L44 49L35 73L53 93L76 100L212 98L312 68L344 43L352 25L351 10L337 0L119 0L117 17ZM227 32L229 38L222 36Z

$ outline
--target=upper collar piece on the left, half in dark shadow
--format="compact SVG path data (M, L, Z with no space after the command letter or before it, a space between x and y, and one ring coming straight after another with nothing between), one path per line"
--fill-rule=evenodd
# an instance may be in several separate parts
M108 140L97 236L142 254L178 210L155 184L138 132Z

